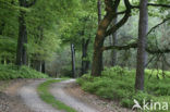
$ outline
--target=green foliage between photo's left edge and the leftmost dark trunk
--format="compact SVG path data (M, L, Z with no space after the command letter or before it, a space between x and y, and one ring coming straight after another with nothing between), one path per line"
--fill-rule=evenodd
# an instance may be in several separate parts
M0 0L0 61L2 64L15 61L19 9L21 8L15 7L13 0Z

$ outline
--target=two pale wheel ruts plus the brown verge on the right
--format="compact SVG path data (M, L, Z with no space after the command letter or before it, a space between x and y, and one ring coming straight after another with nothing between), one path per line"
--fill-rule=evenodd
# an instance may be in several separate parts
M56 110L39 98L37 87L44 82L46 79L35 79L26 83L16 90L23 103L33 112L65 112ZM84 92L75 83L75 79L53 83L49 91L57 100L72 107L77 112L131 112L130 110L117 107L117 103L113 101L107 101L95 95Z

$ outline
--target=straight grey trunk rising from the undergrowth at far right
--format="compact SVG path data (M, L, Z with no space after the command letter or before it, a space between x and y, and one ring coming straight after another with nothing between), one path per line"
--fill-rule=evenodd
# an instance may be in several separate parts
M148 32L147 0L139 3L138 45L137 45L137 66L135 90L144 90L144 71L146 60L146 37Z

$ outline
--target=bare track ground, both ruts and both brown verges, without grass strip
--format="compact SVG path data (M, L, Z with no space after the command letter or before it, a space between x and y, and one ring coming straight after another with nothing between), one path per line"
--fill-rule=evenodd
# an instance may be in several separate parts
M45 79L11 80L0 90L0 112L64 112L54 110L38 97L36 88ZM52 84L50 92L77 112L131 112L113 101L84 92L74 79Z

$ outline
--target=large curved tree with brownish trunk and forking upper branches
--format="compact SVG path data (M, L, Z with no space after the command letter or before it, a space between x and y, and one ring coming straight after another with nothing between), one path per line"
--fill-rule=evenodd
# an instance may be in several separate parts
M104 41L106 39L107 36L116 33L122 25L124 25L124 23L127 21L130 14L131 14L131 4L129 2L129 0L124 0L124 4L126 10L123 12L118 12L118 13L113 13L119 4L120 4L120 0L105 0L105 4L106 4L106 15L105 17L101 20L101 22L98 25L98 30L97 30L97 35L95 37L95 43L94 43L94 57L93 57L93 66L92 66L92 75L93 76L100 76L101 75L101 71L102 71L102 47L104 47ZM108 29L108 27L110 26L112 20L118 15L118 14L122 14L125 13L123 18L118 22L114 26L110 27Z

